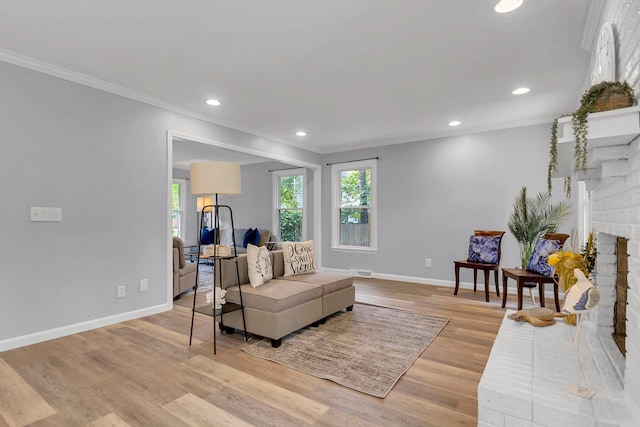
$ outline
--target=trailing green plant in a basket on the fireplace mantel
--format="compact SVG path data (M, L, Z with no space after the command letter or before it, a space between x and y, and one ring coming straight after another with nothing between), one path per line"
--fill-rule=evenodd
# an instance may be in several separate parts
M580 107L571 114L571 127L576 139L574 147L574 168L575 170L586 171L587 169L587 149L589 113L606 111L616 108L628 107L633 104L634 93L629 84L625 82L601 82L591 86L580 99ZM551 174L558 167L558 119L551 124L551 142L549 149L549 168L547 173L547 186L551 193ZM565 195L571 198L571 178L565 178Z

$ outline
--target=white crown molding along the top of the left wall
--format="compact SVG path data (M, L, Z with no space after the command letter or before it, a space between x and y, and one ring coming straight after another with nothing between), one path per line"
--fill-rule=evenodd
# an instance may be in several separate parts
M134 101L142 102L144 104L152 105L154 107L162 108L164 110L172 111L174 113L183 114L185 116L193 117L195 119L203 120L209 123L213 123L215 125L225 126L233 130L258 136L260 138L265 138L281 144L290 145L290 146L299 148L301 150L311 151L313 153L320 154L320 151L318 151L317 149L303 145L302 143L285 140L274 135L267 135L257 131L256 129L239 126L235 123L225 122L223 120L212 120L211 117L202 115L200 113L196 113L194 111L188 110L186 108L183 108L174 104L170 104L168 102L163 101L162 99L154 98L144 93L137 92L137 91L125 88L123 86L118 86L116 84L109 83L107 81L100 80L95 77L88 76L86 74L71 71L66 68L58 67L56 65L52 65L43 61L38 61L36 59L21 55L16 52L0 49L0 61L8 62L10 64L14 64L20 67L28 68L30 70L38 71L43 74L58 77L60 79L67 80L73 83L78 83L83 86L88 86L94 89L98 89L103 92L122 96L124 98L132 99Z

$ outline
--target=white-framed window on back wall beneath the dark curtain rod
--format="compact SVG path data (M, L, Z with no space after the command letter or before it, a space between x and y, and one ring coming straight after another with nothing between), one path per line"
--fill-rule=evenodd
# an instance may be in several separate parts
M375 251L376 160L331 166L332 247Z

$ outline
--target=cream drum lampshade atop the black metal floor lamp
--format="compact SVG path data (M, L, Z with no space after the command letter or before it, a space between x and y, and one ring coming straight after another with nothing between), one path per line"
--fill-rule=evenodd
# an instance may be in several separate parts
M240 194L240 164L228 162L191 163L191 194Z

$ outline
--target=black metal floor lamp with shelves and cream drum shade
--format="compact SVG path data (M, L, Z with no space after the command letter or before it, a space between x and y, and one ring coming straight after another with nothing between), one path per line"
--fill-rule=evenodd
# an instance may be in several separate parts
M218 200L218 196L220 195L234 195L240 194L241 192L241 180L240 180L240 164L238 163L228 163L228 162L199 162L199 163L191 163L190 167L191 172L191 194L194 196L199 196L198 199L201 199L202 205L199 205L198 208L201 212L200 215L200 231L198 235L198 259L197 265L198 269L196 269L196 285L195 290L198 289L198 270L200 267L200 256L201 256L201 248L202 244L202 228L204 227L204 216L208 211L213 210L213 265L214 265L214 279L213 279L213 301L215 304L216 301L216 276L222 279L222 272L219 268L220 264L217 261L219 258L219 247L220 247L220 209L227 209L229 212L229 216L231 218L231 230L232 230L232 240L233 240L233 258L235 258L235 236L233 233L233 212L231 211L231 207L228 205L221 205ZM206 204L207 197L209 204ZM200 200L199 200L200 201ZM236 264L237 268L237 264ZM242 303L242 293L240 293L240 307L243 306ZM193 322L194 315L196 311L196 295L193 298L193 312L191 316L191 334L189 336L189 345L191 345L191 338L193 335ZM216 316L222 315L225 312L225 309L215 309L215 306L212 307L213 314L213 352L215 354L216 351L216 333L215 333L215 322ZM244 310L242 311L242 320L244 323ZM222 319L221 319L222 321ZM246 325L245 328L245 339L246 339Z

